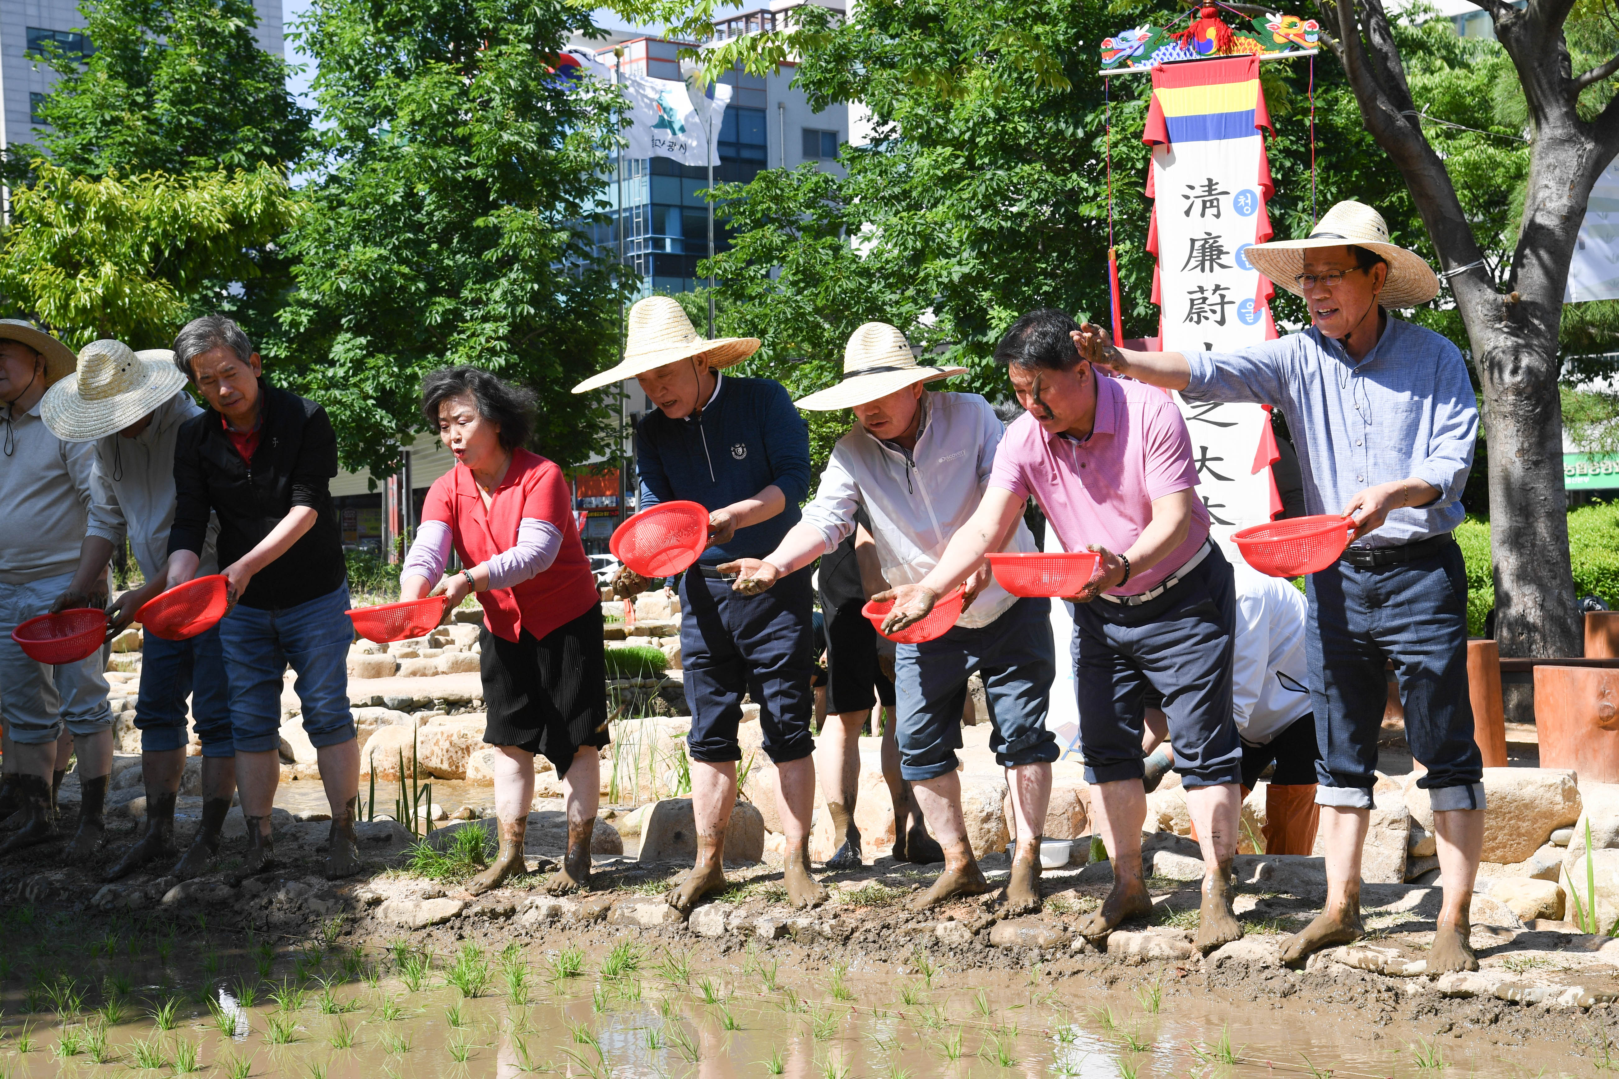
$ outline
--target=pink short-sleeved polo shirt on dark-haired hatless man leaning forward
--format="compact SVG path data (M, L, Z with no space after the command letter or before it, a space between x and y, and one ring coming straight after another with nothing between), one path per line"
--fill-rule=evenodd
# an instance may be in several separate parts
M989 485L1038 501L1064 550L1098 544L1117 555L1151 524L1154 500L1198 485L1198 468L1187 422L1162 390L1099 375L1091 434L1052 435L1028 413L1018 416L996 453ZM1156 587L1208 535L1208 506L1193 500L1185 542L1111 592L1138 595Z

